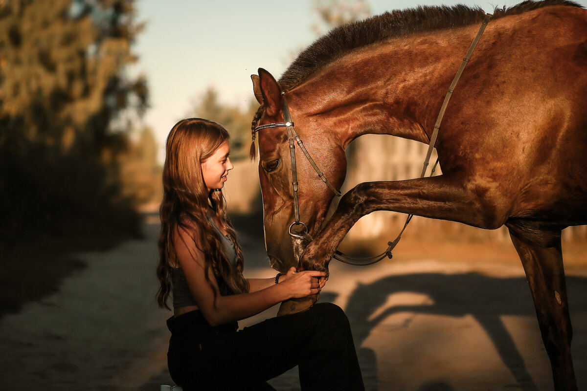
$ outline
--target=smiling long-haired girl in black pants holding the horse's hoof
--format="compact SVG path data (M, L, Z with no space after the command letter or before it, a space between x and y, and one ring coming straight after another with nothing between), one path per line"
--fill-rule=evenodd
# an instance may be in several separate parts
M243 277L221 191L234 168L228 139L201 118L179 121L167 137L157 301L170 309L173 296L171 378L185 391L272 389L266 380L298 365L302 390L363 390L349 321L334 304L238 330L240 319L319 293L325 273Z

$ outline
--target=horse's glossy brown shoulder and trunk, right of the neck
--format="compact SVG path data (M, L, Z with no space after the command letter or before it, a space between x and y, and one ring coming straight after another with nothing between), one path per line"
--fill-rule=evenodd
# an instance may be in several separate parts
M461 80L451 104L468 119L456 115L443 131L460 132L454 140L467 140L458 148L471 159L495 157L468 162L471 174L508 178L498 193L513 217L585 224L587 10L547 6L491 21ZM458 126L479 118L477 128Z

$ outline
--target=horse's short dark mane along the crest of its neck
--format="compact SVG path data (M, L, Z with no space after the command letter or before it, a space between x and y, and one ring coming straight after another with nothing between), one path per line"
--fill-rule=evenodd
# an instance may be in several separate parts
M516 15L549 5L581 5L568 0L527 0L511 8L495 8L493 19ZM284 90L299 86L309 76L352 50L390 38L415 33L468 26L481 23L485 13L480 7L418 6L386 12L355 23L339 26L323 35L301 52L279 79Z

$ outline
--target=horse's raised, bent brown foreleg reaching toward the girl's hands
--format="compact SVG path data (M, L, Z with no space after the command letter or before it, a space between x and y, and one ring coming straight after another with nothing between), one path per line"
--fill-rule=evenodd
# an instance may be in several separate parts
M360 217L376 210L393 210L432 219L452 220L495 229L505 222L507 197L495 197L500 189L463 185L463 178L447 175L408 181L365 182L340 200L338 208L300 259L303 270L323 270L350 228ZM494 198L491 197L494 196ZM495 199L495 201L493 200Z

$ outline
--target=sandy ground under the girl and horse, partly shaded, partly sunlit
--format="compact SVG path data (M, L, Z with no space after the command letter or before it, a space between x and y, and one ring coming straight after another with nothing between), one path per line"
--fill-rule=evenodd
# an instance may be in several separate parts
M59 290L0 318L0 390L158 390L167 372L168 311L154 302L158 225L113 250L76 254L87 267ZM272 277L262 238L241 235L247 277ZM573 359L587 389L587 255L568 258ZM511 245L431 249L400 243L393 261L332 263L321 301L350 319L367 390L551 390L532 299ZM277 307L245 319L271 317ZM270 382L298 390L296 370Z

